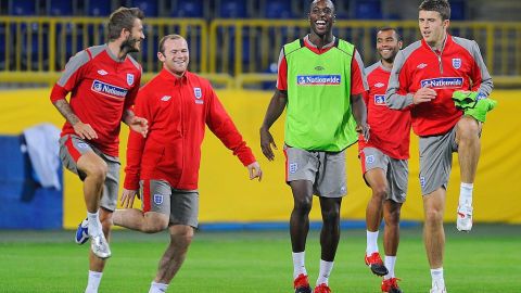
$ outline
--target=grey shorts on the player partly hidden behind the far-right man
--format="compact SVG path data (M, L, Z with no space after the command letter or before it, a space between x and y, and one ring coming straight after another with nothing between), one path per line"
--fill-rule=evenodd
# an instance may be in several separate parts
M404 203L407 194L407 177L409 167L407 160L396 160L376 148L364 148L360 152L361 171L381 168L387 179L387 198L396 203ZM364 178L365 179L365 178ZM366 181L367 183L367 181Z

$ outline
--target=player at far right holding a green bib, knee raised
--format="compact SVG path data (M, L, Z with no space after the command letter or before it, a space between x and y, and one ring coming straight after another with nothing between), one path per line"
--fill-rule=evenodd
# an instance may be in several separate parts
M450 5L446 0L425 0L420 4L419 28L423 39L396 55L385 100L392 109L410 109L412 129L420 137L423 240L433 293L446 292L443 215L452 153L458 152L461 169L457 213L460 231L470 231L472 227L472 188L480 156L482 124L473 115L463 115L452 97L456 90L474 91L487 102L493 88L478 44L448 35L449 18Z

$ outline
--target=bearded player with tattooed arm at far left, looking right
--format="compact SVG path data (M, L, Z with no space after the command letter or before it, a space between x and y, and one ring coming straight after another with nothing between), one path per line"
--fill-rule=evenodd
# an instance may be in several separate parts
M79 228L91 238L90 270L85 292L98 292L105 259L112 212L116 208L119 177L120 122L145 136L147 120L130 109L138 93L141 66L129 52L139 52L143 12L119 8L109 21L109 42L73 56L51 92L51 101L65 117L60 139L63 165L84 181L88 226ZM69 102L65 97L72 92ZM100 208L101 207L101 208ZM88 238L85 238L87 241Z

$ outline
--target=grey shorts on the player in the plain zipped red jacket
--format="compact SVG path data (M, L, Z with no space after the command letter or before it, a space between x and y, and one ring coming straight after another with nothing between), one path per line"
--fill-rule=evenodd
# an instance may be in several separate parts
M173 189L165 180L139 181L142 211L169 215L169 225L198 228L199 192Z

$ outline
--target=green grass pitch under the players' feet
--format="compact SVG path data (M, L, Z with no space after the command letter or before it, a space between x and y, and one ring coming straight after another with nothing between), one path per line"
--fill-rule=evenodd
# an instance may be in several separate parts
M521 226L475 225L460 233L446 226L445 280L449 292L521 292ZM73 231L0 231L0 292L84 292L88 244ZM100 293L148 292L168 237L115 231ZM381 243L381 241L380 241ZM380 251L383 251L380 245ZM364 265L365 231L342 231L330 285L335 293L380 292L380 278ZM318 272L318 232L312 231L306 265ZM402 229L396 273L404 292L429 292L421 228ZM288 232L199 232L169 292L292 292Z

